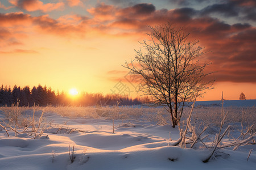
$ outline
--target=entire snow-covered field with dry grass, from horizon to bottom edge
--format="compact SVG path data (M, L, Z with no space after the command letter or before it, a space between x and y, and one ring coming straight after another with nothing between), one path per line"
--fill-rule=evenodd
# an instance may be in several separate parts
M246 107L244 114L241 107L224 109L229 113L223 130L232 127L218 146L249 138L250 133L245 137L240 134L255 123L256 108ZM184 120L189 111L185 109ZM106 117L98 116L99 112ZM203 163L220 128L220 112L220 107L195 108L191 124L199 132L207 127L201 136L206 138L202 139L204 144L199 141L193 148L189 148L191 144L184 148L171 146L180 133L168 124L163 108L36 108L32 133L33 108L2 107L0 169L256 169L253 141L234 151L234 147L221 148ZM17 123L13 115L17 115ZM184 128L185 122L181 122ZM254 132L255 125L251 128Z

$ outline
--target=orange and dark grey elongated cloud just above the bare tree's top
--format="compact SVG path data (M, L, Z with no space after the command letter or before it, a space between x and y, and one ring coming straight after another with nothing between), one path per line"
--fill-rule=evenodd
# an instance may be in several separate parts
M178 8L174 10L156 10L151 3L140 3L130 7L117 7L100 3L88 9L98 28L120 28L129 31L145 31L147 25L156 25L167 21L189 22L197 11L193 8ZM97 25L98 24L98 25Z

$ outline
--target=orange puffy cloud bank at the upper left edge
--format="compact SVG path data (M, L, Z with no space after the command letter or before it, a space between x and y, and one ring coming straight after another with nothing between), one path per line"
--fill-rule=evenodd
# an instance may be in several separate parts
M82 38L88 31L85 16L66 15L59 19L48 15L31 16L23 12L0 13L0 48L25 45L31 34Z

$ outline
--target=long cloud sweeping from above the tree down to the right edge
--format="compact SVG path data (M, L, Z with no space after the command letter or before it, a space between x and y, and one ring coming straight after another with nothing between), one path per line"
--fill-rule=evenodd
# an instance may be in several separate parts
M209 6L208 8L211 9L209 14L217 12L228 17L238 15L234 10L235 6L228 8L223 5L219 9L217 7L217 5ZM147 15L137 13L135 6L120 8L101 4L102 8L109 14L108 23L104 23L109 29L119 28L128 31L134 29L138 32L145 30L148 24L158 25L166 21L175 23L177 27L185 25L192 32L191 39L199 39L200 45L205 46L205 50L212 51L205 54L205 58L212 62L209 69L205 71L218 71L218 73L210 77L216 78L217 82L256 82L256 58L254 56L256 32L255 27L248 23L228 24L220 19L202 15L200 10L188 7L174 10L152 8L148 10ZM108 12L108 10L111 11ZM91 14L97 16L99 14L97 12L102 12L102 10L96 7L94 12L96 13ZM135 14L137 17L134 17ZM114 77L112 79L116 80Z

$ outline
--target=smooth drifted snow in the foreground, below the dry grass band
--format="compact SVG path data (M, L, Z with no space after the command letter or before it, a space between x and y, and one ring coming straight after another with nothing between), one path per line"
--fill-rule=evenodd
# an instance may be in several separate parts
M37 121L41 113L41 111L35 112ZM33 111L28 110L23 111L20 116L28 119L32 114ZM255 115L255 112L253 114ZM7 137L6 131L0 127L0 169L227 170L256 167L255 145L240 146L236 151L233 151L233 147L223 148L219 150L219 156L210 159L208 163L203 163L202 160L209 154L207 148L200 144L196 145L196 149L170 146L179 139L179 130L172 128L171 125L157 125L152 118L148 118L148 121L138 117L115 119L113 133L113 120L110 118L67 117L54 113L53 110L44 113L43 117L38 134L40 130L43 130L43 133L36 139L34 139L35 133L31 135L31 132L19 133L15 137L15 132L12 130L8 131L10 137ZM0 111L0 118L7 122L3 111ZM238 124L241 125L232 122L233 127ZM213 132L218 129L213 124L210 126L205 131L205 134L209 134L207 139L209 143L214 139ZM29 130L31 128L26 131ZM239 134L240 132L233 128L229 137L226 135L223 143L233 140L232 138ZM71 162L69 157L72 157L73 146L75 151ZM253 151L247 160L251 149Z

